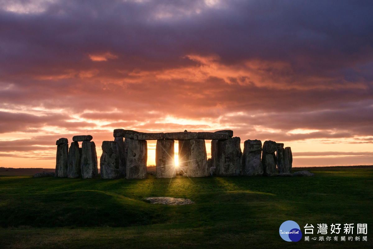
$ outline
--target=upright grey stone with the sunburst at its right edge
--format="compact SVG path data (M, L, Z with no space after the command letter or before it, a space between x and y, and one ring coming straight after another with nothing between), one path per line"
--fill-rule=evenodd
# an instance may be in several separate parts
M171 139L157 140L157 145L156 145L156 177L157 178L173 178L176 176L174 144L175 144L175 141Z

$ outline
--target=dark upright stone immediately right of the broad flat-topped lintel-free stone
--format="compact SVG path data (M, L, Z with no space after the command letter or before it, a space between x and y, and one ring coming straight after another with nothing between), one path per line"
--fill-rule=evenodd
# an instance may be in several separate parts
M264 142L263 153L261 155L264 176L276 176L276 150L276 142L270 140Z

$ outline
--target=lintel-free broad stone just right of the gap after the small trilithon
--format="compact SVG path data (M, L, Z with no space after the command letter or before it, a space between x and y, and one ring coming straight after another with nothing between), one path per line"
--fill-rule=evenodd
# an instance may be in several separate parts
M100 173L103 179L118 179L119 174L119 145L115 141L102 142L100 158Z

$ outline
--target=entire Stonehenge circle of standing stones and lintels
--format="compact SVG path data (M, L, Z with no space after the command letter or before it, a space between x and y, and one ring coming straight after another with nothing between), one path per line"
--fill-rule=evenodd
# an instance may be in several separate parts
M100 157L100 176L103 179L145 179L147 174L148 140L156 140L156 178L176 176L276 176L291 174L290 147L274 141L244 141L233 137L233 130L216 132L137 132L115 129L113 141L103 141ZM95 143L91 135L73 136L56 141L56 170L54 176L95 178L98 163ZM178 142L178 161L175 166L174 145ZM211 141L211 158L207 158L205 140ZM81 142L81 148L79 143ZM276 169L278 172L276 172Z

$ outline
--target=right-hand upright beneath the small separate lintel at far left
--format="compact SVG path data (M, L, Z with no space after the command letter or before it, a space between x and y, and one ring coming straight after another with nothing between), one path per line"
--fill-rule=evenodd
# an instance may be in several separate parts
M98 175L97 153L94 142L82 142L82 159L81 159L82 178L95 178Z

